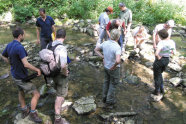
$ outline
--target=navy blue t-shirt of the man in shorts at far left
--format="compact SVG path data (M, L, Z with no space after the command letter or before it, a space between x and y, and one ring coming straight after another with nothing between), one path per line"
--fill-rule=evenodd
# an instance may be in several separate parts
M17 40L10 42L2 55L9 58L11 65L11 74L16 79L24 79L28 76L28 71L22 63L22 59L28 54L21 43Z

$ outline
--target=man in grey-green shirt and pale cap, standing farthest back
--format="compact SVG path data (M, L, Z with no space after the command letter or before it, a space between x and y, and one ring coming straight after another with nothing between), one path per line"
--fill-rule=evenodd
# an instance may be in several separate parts
M120 8L119 19L121 19L126 26L126 34L124 34L123 30L121 33L119 43L121 45L122 51L125 51L125 46L127 42L126 36L130 32L130 26L132 24L132 11L128 9L124 3L119 3L119 8Z

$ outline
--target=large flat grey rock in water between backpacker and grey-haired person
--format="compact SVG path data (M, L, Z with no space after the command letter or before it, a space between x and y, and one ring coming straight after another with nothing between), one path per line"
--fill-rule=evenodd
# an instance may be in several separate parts
M96 104L93 96L82 97L75 101L72 106L78 114L88 114L96 110Z

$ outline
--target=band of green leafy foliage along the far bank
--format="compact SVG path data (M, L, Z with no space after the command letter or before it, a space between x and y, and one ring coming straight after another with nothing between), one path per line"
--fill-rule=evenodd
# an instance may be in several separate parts
M105 8L114 8L110 18L118 18L118 4L124 2L132 10L133 20L145 25L166 22L174 19L186 25L184 8L167 2L151 3L151 0L0 0L0 14L13 6L16 21L25 22L32 16L38 17L38 9L45 8L53 18L97 19Z

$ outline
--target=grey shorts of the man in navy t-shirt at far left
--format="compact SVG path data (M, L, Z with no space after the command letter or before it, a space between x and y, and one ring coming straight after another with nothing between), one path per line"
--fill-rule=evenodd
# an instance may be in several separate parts
M23 82L20 79L12 78L19 91L23 91L24 93L33 93L36 89L36 86L31 82Z

